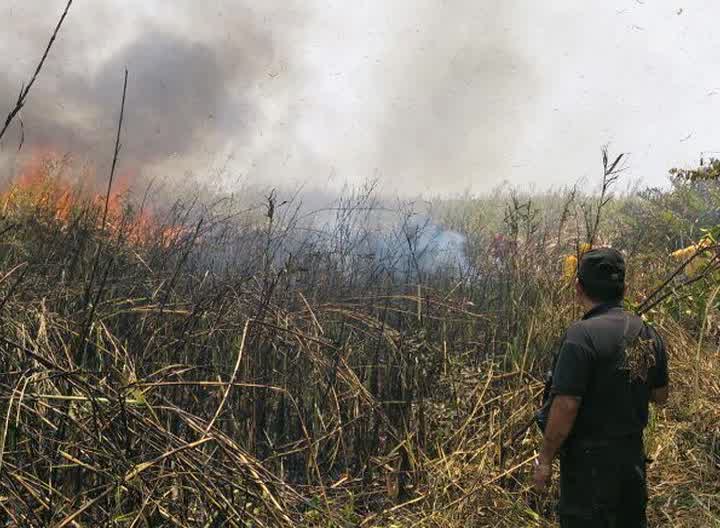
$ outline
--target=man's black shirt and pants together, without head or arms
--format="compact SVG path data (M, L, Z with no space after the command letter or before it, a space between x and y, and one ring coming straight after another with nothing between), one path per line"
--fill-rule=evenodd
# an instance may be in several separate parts
M662 339L617 304L598 305L561 345L552 393L580 400L561 452L564 528L642 528L643 430L653 390L668 383Z

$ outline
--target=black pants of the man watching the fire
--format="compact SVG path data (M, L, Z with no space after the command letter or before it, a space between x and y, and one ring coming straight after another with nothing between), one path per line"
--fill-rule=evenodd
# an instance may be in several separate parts
M646 528L642 438L570 447L560 457L562 528Z

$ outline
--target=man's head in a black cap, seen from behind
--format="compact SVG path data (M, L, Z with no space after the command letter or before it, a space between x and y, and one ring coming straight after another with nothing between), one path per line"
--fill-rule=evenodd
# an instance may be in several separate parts
M578 294L590 304L620 303L625 295L625 259L612 248L585 253L578 266Z

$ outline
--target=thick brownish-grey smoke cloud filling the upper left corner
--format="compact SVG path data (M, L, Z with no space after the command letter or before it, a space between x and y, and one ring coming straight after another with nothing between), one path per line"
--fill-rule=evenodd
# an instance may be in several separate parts
M228 137L244 141L256 110L251 92L267 74L278 40L256 13L223 3L225 12L185 1L165 6L182 17L164 10L127 17L117 11L120 2L75 2L21 114L27 150L51 147L109 161L125 68L130 81L123 154L135 167L190 158L213 143L222 148ZM32 72L64 2L47 4L56 9L22 9L19 2L0 8L0 26L10 26L0 39L14 51L12 66L0 75L3 111ZM187 32L183 20L192 19L198 23ZM232 27L232 35L205 27L218 20L221 28ZM6 136L6 155L20 138L16 126Z

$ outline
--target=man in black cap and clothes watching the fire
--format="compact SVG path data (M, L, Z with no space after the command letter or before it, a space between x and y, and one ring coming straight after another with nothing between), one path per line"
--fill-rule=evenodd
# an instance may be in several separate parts
M546 488L559 454L562 528L644 528L643 430L649 402L668 399L665 347L622 308L618 251L586 253L575 287L587 313L568 329L555 358L534 486Z

